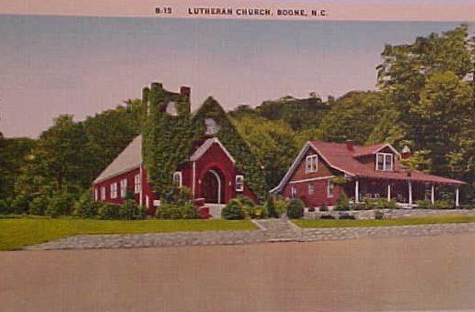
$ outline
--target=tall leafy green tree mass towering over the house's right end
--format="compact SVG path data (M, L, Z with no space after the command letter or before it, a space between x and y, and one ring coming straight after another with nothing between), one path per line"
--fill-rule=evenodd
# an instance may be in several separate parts
M407 45L386 45L378 84L404 140L430 157L430 171L473 180L475 57L468 26ZM471 81L470 81L471 79Z

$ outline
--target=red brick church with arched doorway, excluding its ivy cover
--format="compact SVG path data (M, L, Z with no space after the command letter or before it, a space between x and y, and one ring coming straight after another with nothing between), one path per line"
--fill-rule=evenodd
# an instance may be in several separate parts
M158 85L161 87L161 85ZM167 106L163 114L170 118L181 113L190 114L190 89L181 87L180 93L160 90L165 95ZM177 103L185 103L187 111ZM149 109L149 108L147 108ZM175 164L175 171L169 176L170 185L187 187L193 199L205 206L212 206L217 214L229 200L239 194L258 202L258 196L247 183L247 176L238 169L237 159L218 139L220 125L212 117L205 118L206 133L190 143L186 160ZM165 139L165 138L164 138ZM121 204L126 194L133 194L136 203L146 206L153 213L161 204L153 191L144 164L144 136L136 136L116 156L106 169L96 177L92 185L96 201ZM203 204L200 204L203 205Z

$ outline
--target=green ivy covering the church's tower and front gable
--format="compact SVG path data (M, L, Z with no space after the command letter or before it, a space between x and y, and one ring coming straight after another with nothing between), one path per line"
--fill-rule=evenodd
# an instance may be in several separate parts
M176 114L169 114L170 105L176 106ZM142 155L149 182L158 196L173 187L172 175L179 164L187 161L194 142L207 136L207 118L217 123L216 136L236 159L238 171L245 175L249 188L261 199L266 196L266 179L257 157L215 99L208 97L191 116L189 94L169 92L161 84L153 83L143 90L142 111Z

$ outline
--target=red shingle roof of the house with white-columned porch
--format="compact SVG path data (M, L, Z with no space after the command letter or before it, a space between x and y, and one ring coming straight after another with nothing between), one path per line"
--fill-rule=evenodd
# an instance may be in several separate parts
M384 178L384 179L408 179L408 171L401 168L399 160L395 158L393 171L375 170L375 163L363 163L358 157L364 155L375 154L379 149L387 144L378 144L374 146L354 146L353 150L349 150L345 143L328 143L323 141L309 141L310 146L315 148L317 152L333 166L351 176ZM390 146L392 147L392 146ZM441 183L441 184L465 184L465 182L450 179L443 176L434 176L423 172L410 171L410 179L421 182Z

